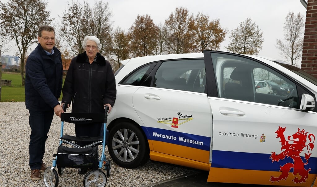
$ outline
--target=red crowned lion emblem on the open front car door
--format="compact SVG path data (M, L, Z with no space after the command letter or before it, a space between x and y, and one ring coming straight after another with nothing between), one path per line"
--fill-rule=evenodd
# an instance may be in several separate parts
M311 170L311 168L306 170L304 166L308 164L308 159L311 155L309 151L313 150L314 148L315 136L313 134L308 135L309 144L306 146L308 132L305 133L304 129L300 130L298 128L298 131L292 135L293 138L291 136L288 136L288 141L286 141L284 136L285 129L286 127L279 127L278 130L275 132L277 134L276 138L281 138L280 142L282 145L282 152L278 155L275 152L272 152L270 159L272 159L272 162L278 162L279 160L283 160L286 157L291 157L294 163L286 163L283 166L280 166L280 171L282 172L281 175L279 177L271 176L270 181L272 181L273 183L275 181L279 182L280 180L286 180L288 177L288 172L291 170L291 168L294 168L293 175L299 174L301 178L295 177L292 181L294 183L304 183L306 182L308 178L308 173ZM314 138L313 142L312 137ZM304 150L305 147L307 147L307 153L305 153L306 162L304 163L300 157L300 153Z

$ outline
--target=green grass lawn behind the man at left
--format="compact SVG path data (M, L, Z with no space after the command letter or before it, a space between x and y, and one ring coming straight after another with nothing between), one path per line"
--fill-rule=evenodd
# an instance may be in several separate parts
M63 83L64 83L64 78L63 78ZM12 80L12 82L11 82L11 86L1 85L1 101L0 102L25 101L24 86L22 86L22 78L20 73L10 73L10 72L2 71L2 80ZM62 98L62 95L60 99L61 98Z

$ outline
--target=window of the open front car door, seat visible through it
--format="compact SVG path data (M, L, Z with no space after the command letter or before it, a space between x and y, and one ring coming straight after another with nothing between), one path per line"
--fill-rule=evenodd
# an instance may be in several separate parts
M299 108L295 84L274 69L249 58L217 53L212 54L212 62L219 97Z

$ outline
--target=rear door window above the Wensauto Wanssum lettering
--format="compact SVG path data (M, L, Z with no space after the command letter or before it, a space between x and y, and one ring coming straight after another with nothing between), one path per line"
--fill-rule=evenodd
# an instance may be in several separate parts
M203 93L205 74L203 59L166 61L156 71L153 87Z

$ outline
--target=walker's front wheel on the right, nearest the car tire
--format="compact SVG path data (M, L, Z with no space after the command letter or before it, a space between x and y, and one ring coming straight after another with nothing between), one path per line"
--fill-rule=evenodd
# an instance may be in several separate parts
M84 187L88 187L90 184L105 187L107 184L106 174L100 170L92 170L88 172L84 178Z

